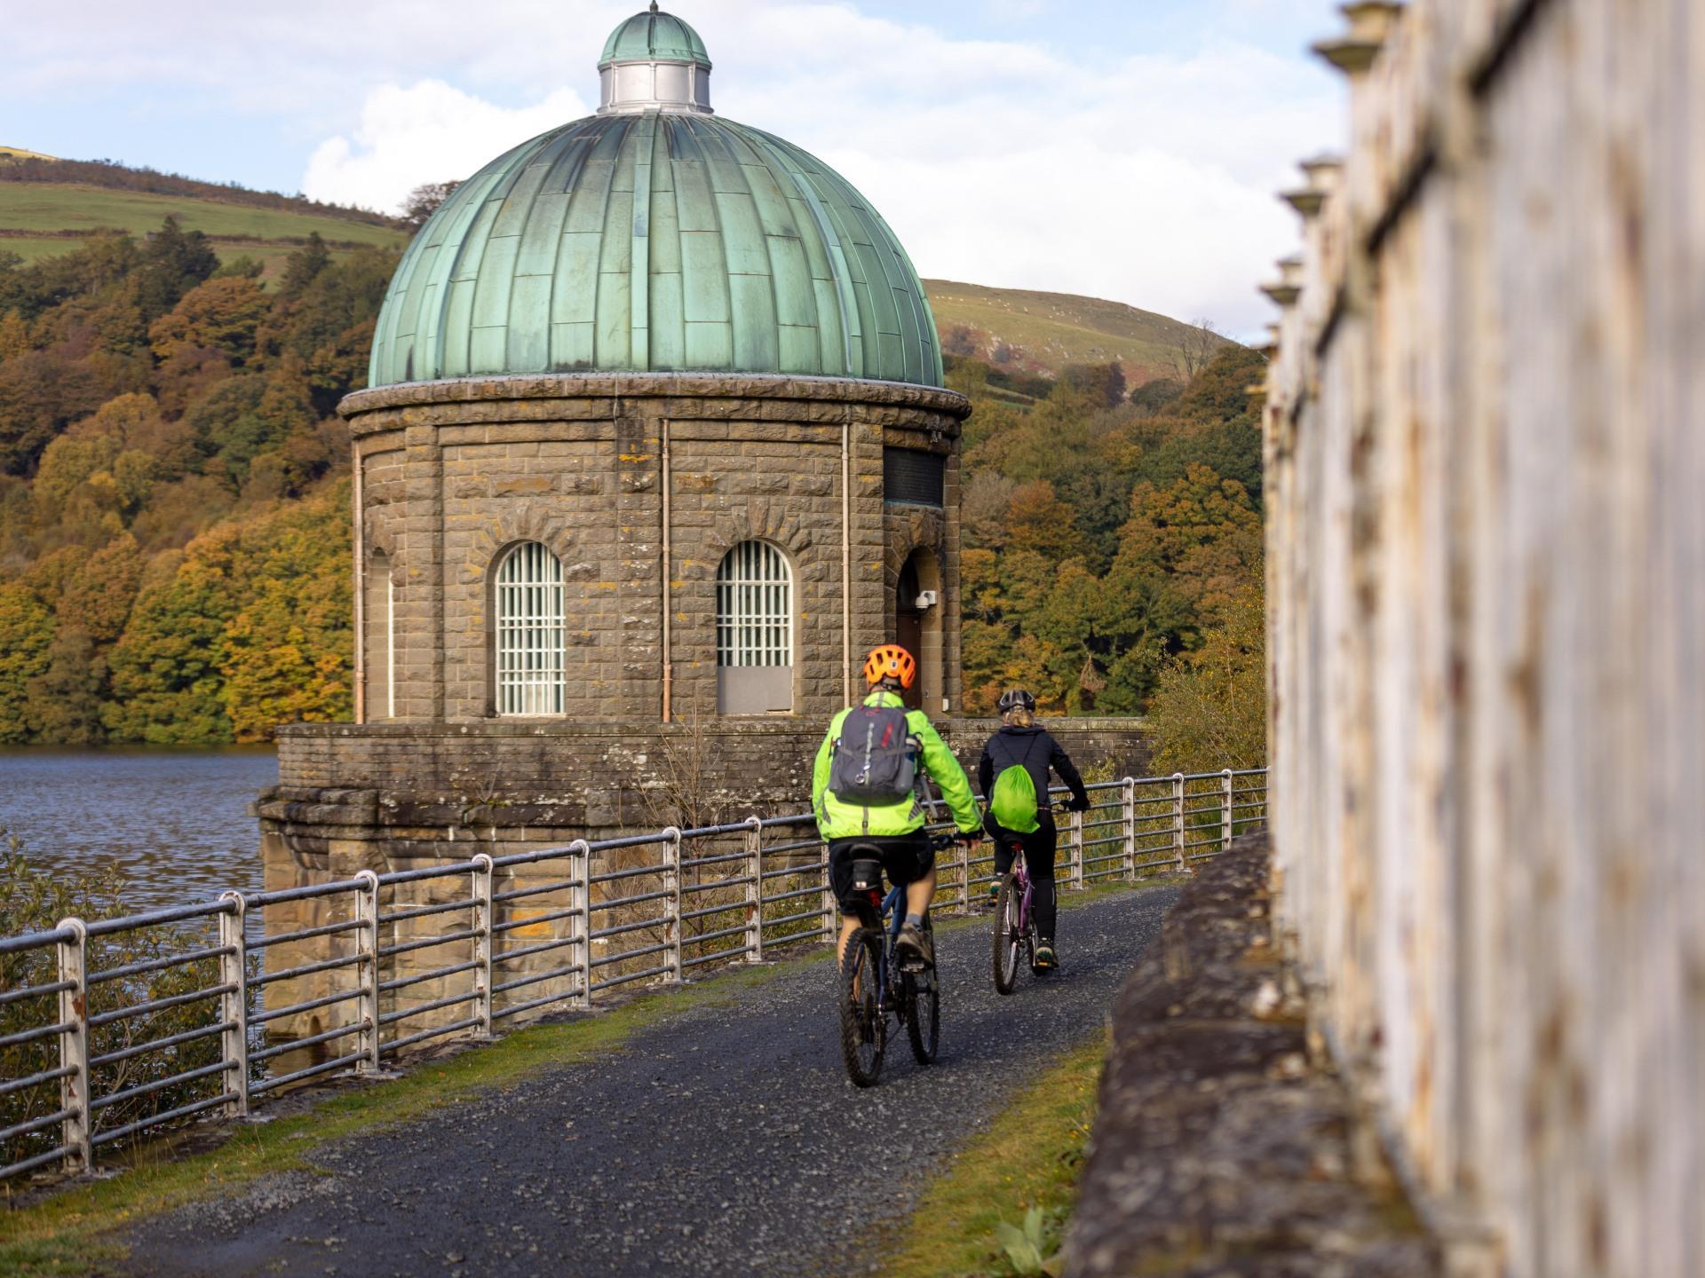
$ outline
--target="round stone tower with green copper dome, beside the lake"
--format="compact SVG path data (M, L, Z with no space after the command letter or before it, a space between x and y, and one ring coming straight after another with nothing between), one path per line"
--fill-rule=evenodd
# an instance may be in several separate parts
M416 235L343 404L358 712L280 734L259 813L298 861L597 838L689 736L696 786L800 811L878 642L958 709L970 404L905 249L713 112L680 19L631 17L598 73L595 116Z

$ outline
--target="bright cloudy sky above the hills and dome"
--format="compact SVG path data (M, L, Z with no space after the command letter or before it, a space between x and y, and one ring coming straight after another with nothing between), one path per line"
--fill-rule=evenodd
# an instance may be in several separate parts
M587 114L636 0L0 0L0 143L396 208ZM1338 145L1325 0L670 0L716 109L844 172L926 276L1253 336L1274 191Z

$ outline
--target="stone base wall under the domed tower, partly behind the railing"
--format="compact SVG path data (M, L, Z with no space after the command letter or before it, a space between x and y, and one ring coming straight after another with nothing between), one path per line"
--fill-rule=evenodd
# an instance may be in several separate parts
M943 724L943 731L972 769L994 726L992 721L962 719ZM1137 721L1067 721L1054 728L1086 769L1112 763L1117 775L1125 775L1141 774L1146 767L1147 750ZM697 726L675 724L668 731L644 721L285 728L280 733L281 784L266 791L256 804L266 886L283 889L346 881L365 869L384 874L448 866L476 852L494 857L559 852L576 838L597 842L689 821L685 804L704 823L803 813L810 806L810 770L822 733L822 719L808 722L791 716L711 719ZM784 826L767 842L771 847L791 843L801 849L767 866L771 871L784 869L789 859L796 859L800 878L774 879L767 891L813 891L818 886L820 854L810 825ZM718 850L738 852L742 847L743 840L737 835ZM696 845L696 852L702 855L704 845ZM656 864L658 857L656 845L605 850L593 869L631 869ZM566 866L558 855L508 867L496 884L501 893L515 893L496 920L505 929L501 949L527 951L503 964L505 980L527 978L505 1000L563 997L575 988L571 978L549 975L566 961L561 949L529 949L569 937L571 922L564 912L571 910L575 898L563 883ZM593 898L609 900L610 891L619 895L651 886L651 879L638 888L631 883L600 886ZM419 912L465 898L465 879L419 879L387 888L382 910ZM812 905L805 901L800 908ZM269 910L266 927L275 935L327 927L346 920L350 910L351 898L344 893L317 896ZM600 915L600 925L609 922L629 920ZM731 920L723 918L716 925L731 925ZM448 927L445 915L414 915L385 924L380 942L409 947L443 935ZM622 932L597 941L592 953L598 963L626 963L622 956L634 946L656 939L653 930ZM281 942L269 963L276 968L314 964L346 954L350 944L348 934ZM407 1010L409 1031L452 1024L464 1016L462 1004L442 1000L462 997L467 976L460 975L460 968L443 975L436 970L464 964L471 953L467 941L447 941L404 949L387 959L385 978L397 985L384 995L380 1012L394 1016ZM609 973L600 970L600 975ZM339 982L346 982L341 970L278 982L268 987L268 1005L322 999L339 988ZM351 1014L350 1004L339 1004L269 1022L268 1031L280 1039L310 1038L346 1024ZM297 1063L307 1063L307 1058Z

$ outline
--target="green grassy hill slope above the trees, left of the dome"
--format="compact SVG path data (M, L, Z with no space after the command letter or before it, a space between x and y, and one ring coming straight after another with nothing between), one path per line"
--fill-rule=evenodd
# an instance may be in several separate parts
M407 232L348 218L292 210L249 208L194 196L113 191L84 184L0 182L0 252L26 262L70 252L84 237L121 230L143 237L176 216L184 230L213 240L222 261L254 257L271 278L310 233L319 232L334 256L360 244L401 247Z

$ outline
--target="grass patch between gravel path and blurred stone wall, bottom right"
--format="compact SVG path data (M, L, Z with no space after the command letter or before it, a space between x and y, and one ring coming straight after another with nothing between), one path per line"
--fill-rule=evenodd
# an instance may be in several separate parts
M1059 1251L1078 1201L1078 1172L1105 1056L1107 1034L1067 1051L965 1145L924 1191L904 1237L883 1261L883 1276L1043 1273L1040 1264L1009 1254L1006 1242L1026 1232L1025 1218L1033 1212L1032 1246L1038 1256Z

